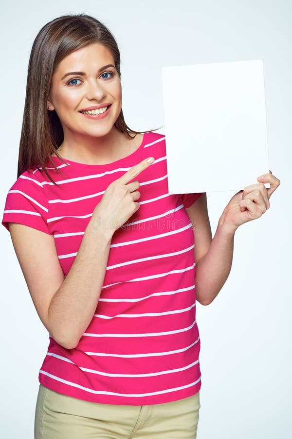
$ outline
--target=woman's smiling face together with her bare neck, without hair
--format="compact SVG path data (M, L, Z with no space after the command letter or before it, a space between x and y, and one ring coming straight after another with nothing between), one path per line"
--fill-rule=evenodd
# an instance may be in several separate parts
M55 69L47 105L62 125L58 153L63 157L96 163L118 156L127 140L114 126L122 110L122 87L107 47L91 43L67 55Z

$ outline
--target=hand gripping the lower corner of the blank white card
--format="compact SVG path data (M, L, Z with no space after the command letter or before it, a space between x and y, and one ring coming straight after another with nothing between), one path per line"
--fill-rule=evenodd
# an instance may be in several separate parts
M246 186L229 201L220 218L220 223L224 227L235 232L241 224L256 220L269 209L269 199L280 185L280 180L272 174L272 171L270 174L258 177L257 180L259 183ZM264 183L270 183L271 187L267 189Z

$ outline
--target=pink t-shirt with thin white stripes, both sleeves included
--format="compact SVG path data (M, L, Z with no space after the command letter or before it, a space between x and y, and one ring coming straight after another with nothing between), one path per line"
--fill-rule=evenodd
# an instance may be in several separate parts
M7 194L2 224L53 235L66 276L108 185L147 157L154 163L134 179L140 182L140 208L113 234L91 323L75 349L49 335L39 382L55 392L148 405L200 390L194 232L185 208L201 194L168 194L162 134L144 134L135 152L109 164L63 164L54 157L63 175L49 162L47 169L58 186L37 168L23 172Z

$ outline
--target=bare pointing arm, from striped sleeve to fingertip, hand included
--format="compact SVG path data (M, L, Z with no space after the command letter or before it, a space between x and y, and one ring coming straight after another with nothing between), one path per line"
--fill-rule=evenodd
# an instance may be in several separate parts
M70 271L64 277L55 239L23 224L9 222L21 270L37 313L53 339L77 346L94 315L106 273L112 236L139 208L139 181L153 163L142 160L110 183L96 205ZM131 181L131 182L130 182Z

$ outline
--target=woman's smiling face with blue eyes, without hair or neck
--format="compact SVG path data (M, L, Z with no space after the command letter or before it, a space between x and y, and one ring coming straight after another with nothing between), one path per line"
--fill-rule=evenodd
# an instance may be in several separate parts
M48 106L61 121L64 140L107 135L122 108L121 81L110 50L92 43L65 57L53 75Z

